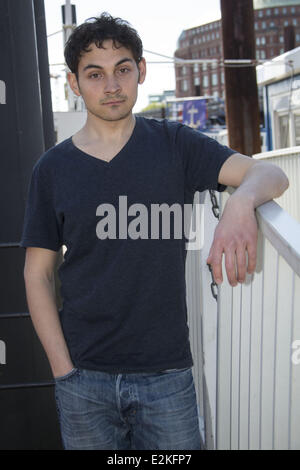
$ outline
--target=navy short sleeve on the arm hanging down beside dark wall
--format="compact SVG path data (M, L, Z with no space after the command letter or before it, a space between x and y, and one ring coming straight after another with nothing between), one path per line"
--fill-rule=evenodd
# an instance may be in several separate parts
M27 194L21 247L58 251L62 246L62 227L56 217L52 192L43 179L40 166L36 164Z

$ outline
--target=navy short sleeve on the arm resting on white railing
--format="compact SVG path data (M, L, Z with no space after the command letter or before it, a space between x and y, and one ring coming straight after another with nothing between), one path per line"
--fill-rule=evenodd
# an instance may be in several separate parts
M218 177L223 163L237 153L235 150L185 125L178 128L176 146L183 160L189 191L222 192L226 189L227 186L218 183Z

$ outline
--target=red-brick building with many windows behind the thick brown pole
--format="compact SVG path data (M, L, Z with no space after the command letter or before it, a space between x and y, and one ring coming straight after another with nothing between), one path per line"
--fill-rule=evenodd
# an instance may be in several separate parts
M299 0L254 0L254 8L258 60L272 59L285 52L288 27L293 27L295 46L300 46ZM221 61L223 57L221 20L184 30L177 47L175 57L206 60L207 63L175 66L176 97L213 95L224 98L224 67L221 63L209 63L212 59Z

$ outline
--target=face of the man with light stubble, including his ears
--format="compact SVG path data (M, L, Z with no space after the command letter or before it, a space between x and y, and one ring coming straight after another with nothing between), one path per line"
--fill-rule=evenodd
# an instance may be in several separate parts
M127 117L137 100L137 88L146 74L145 60L137 66L132 52L125 47L115 48L106 40L98 48L89 46L78 65L78 81L69 74L69 83L77 96L82 96L87 110L104 121Z

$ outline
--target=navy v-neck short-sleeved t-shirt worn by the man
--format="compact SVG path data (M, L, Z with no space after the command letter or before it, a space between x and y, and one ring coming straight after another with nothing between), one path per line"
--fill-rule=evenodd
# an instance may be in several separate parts
M151 237L151 207L176 204L183 214L195 191L224 191L218 175L233 153L188 126L136 117L131 137L109 162L68 138L35 163L21 246L66 247L58 269L59 316L75 367L130 373L193 365L186 238L184 233L176 238L172 227L170 236L163 236L162 223L159 236ZM120 196L127 198L125 219ZM148 237L145 226L141 237L129 231L141 205L148 214ZM114 211L110 236L104 238L101 221Z

